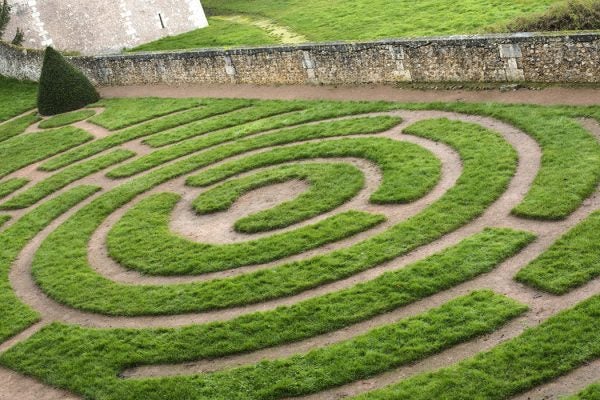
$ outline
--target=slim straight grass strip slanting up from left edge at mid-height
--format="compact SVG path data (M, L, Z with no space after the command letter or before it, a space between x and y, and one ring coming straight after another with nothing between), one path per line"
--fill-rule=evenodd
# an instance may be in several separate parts
M120 163L128 158L135 156L135 153L129 150L114 150L111 153L92 158L80 164L75 164L63 169L62 171L44 179L23 193L19 193L7 202L0 204L0 210L17 210L27 208L44 197L64 188L86 176L92 175L111 165Z

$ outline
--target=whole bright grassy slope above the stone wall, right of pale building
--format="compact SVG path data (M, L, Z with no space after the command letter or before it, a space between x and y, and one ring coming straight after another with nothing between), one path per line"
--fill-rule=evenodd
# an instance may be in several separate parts
M484 32L518 16L544 11L556 0L206 0L211 15L249 14L266 17L309 41L368 40ZM212 27L163 39L138 50L165 50L269 44L258 41L256 28L211 20ZM221 37L221 39L215 39Z

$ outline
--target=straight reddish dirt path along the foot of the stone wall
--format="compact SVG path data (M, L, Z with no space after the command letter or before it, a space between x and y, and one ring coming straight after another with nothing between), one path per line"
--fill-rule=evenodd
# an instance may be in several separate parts
M115 86L100 88L103 97L247 97L280 100L385 100L400 102L499 102L525 104L598 105L600 89L548 88L543 90L412 90L393 86L258 86L239 84L185 86Z

